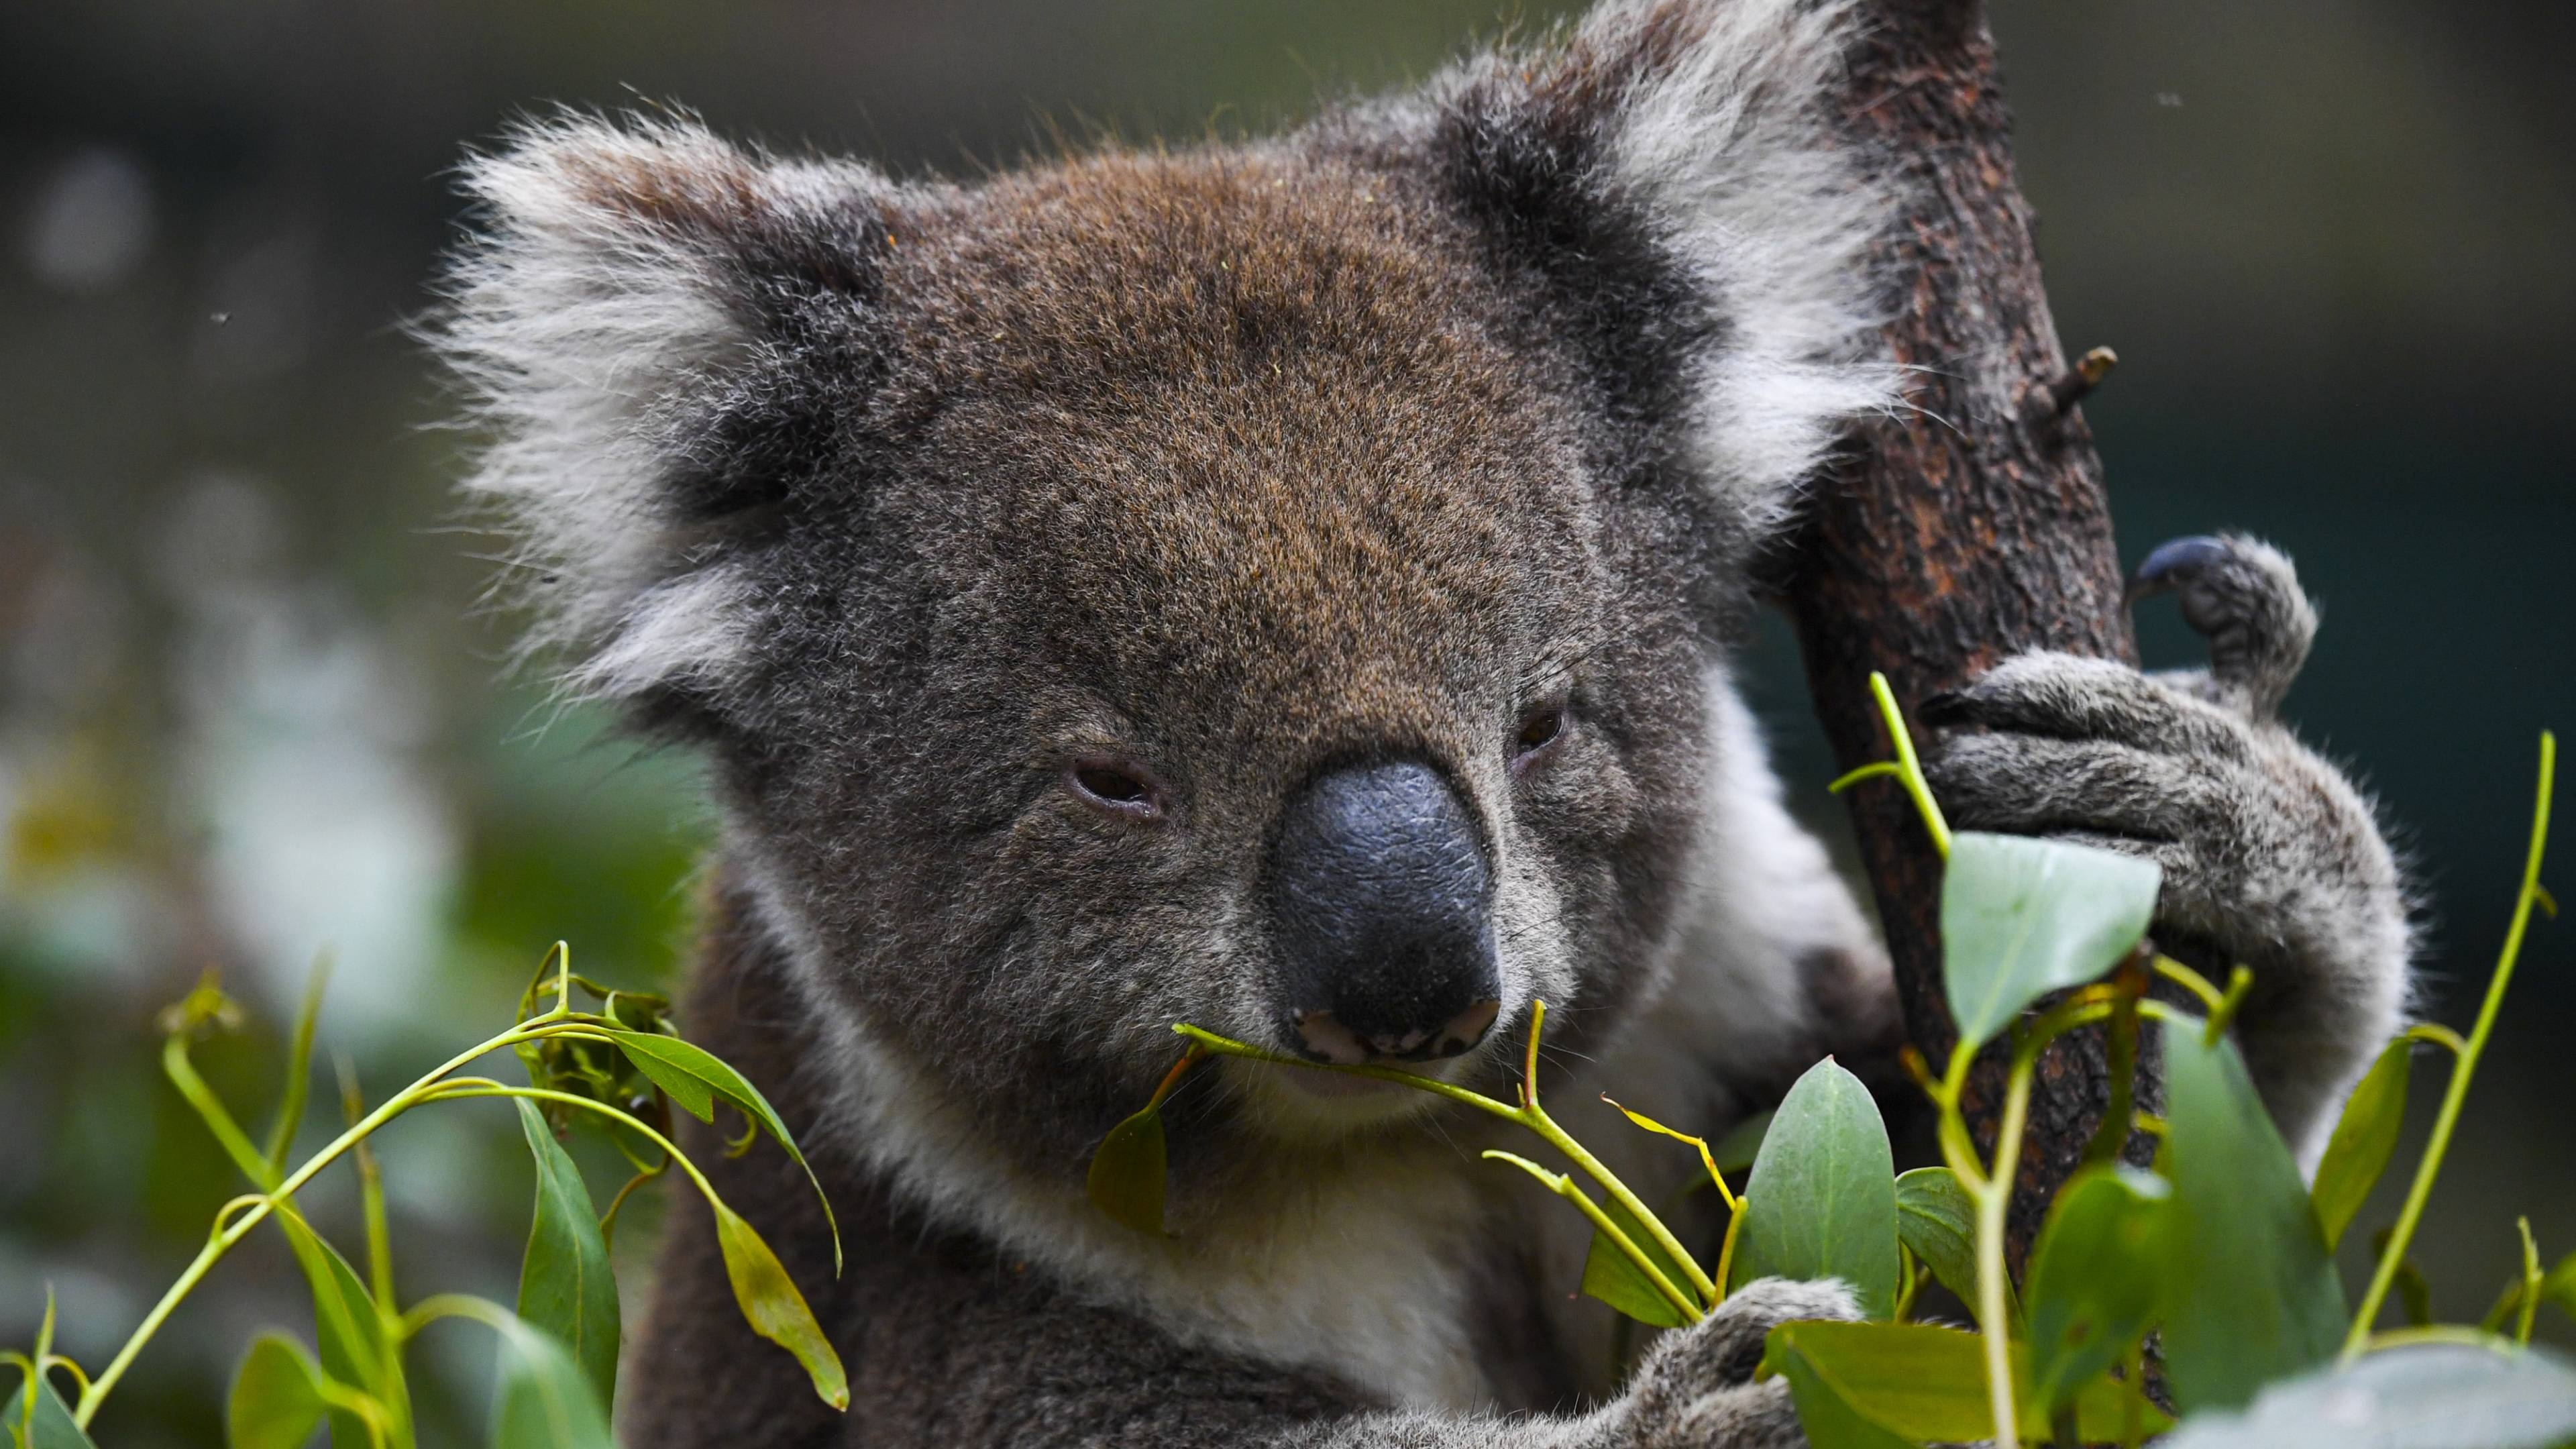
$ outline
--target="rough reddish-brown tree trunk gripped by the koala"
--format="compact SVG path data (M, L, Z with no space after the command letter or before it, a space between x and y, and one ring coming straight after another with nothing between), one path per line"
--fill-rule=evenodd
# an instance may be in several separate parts
M2136 663L2102 459L2074 410L2099 371L2071 369L2058 348L1984 5L1878 0L1875 13L1844 113L1909 188L1878 263L1891 281L1888 351L1914 369L1911 407L1860 431L1816 498L1788 580L1808 688L1844 768L1888 755L1870 670L1886 670L1911 717L1924 696L2032 647ZM1860 786L1850 810L1906 1034L1940 1070L1958 1036L1940 990L1940 859L1901 789ZM2097 1031L2043 1057L2014 1263L2079 1165L2107 1080ZM1989 1060L1968 1088L1989 1145L1999 1098Z

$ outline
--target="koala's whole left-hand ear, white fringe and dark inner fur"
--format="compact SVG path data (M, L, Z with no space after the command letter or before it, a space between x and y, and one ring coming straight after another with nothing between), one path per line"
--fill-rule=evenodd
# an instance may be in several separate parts
M515 539L528 645L582 694L711 694L760 608L744 539L876 371L889 188L587 116L523 126L464 186L484 227L430 340L489 433L469 490Z

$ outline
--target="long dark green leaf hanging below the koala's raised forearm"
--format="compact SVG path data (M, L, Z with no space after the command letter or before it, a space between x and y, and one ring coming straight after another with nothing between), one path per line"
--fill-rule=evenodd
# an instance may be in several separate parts
M2334 1356L2344 1284L2236 1044L2166 1026L2164 1075L2174 1183L2164 1366L2182 1408L2244 1408Z

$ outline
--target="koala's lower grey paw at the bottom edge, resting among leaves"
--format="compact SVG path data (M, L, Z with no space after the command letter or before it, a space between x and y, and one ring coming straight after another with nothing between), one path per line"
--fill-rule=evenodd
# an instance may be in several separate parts
M1628 1449L1803 1449L1785 1379L1757 1385L1762 1338L1803 1318L1860 1318L1837 1281L1757 1279L1700 1323L1667 1333L1623 1400Z

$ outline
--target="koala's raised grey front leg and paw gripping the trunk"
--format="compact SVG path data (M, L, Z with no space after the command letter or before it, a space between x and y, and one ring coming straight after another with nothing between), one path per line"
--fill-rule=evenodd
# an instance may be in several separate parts
M1953 825L2056 835L2164 866L2156 933L2254 969L2239 1039L2303 1160L2409 995L2406 887L2370 802L2275 719L2316 611L2290 559L2179 539L2138 593L2179 593L2208 670L2146 676L2032 652L1924 701Z

